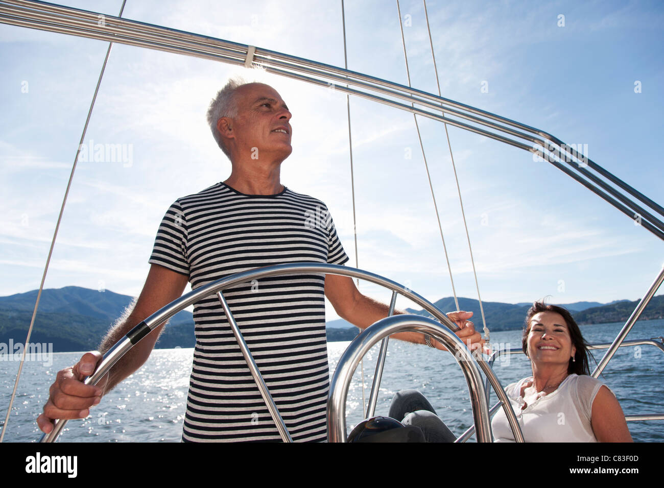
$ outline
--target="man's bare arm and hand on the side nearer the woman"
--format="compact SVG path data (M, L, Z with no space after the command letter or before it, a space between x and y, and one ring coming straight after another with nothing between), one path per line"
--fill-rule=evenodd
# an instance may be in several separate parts
M348 276L333 274L325 276L325 295L339 317L361 329L366 329L375 321L384 319L389 311L389 307L384 303L360 293L355 283L353 283L353 279ZM394 311L395 315L399 313L404 312ZM465 311L448 313L450 320L461 327L456 333L457 337L466 344L470 341L471 349L478 349L482 347L484 341L480 333L475 331L473 323L468 320L472 315L472 312ZM424 334L418 332L400 332L390 337L410 343L424 344ZM435 339L432 338L431 342L436 346L436 349L446 351L446 348Z

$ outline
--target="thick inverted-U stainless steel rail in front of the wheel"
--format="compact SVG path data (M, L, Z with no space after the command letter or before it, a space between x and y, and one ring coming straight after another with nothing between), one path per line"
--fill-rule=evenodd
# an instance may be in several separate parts
M482 392L481 375L473 361L473 355L452 331L442 327L433 319L420 315L392 315L392 317L381 319L362 331L344 351L332 376L327 400L328 442L346 442L346 397L360 359L380 339L404 331L431 335L454 354L470 391L477 440L491 442L493 438L491 437L489 407Z

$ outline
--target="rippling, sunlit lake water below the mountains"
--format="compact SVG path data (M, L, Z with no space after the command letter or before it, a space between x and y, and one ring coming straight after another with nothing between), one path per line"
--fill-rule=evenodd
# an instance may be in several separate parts
M590 343L611 342L622 323L584 325L581 330ZM664 335L664 320L639 321L627 336L650 339ZM491 333L491 343L500 347L521 347L521 331ZM331 374L349 343L328 344ZM600 361L606 350L594 351ZM60 442L179 442L187 402L193 349L157 349L143 368L129 376L104 396L84 420L68 422ZM365 398L369 400L371 379L378 356L378 345L364 361ZM24 363L17 396L9 419L5 441L34 442L41 432L35 419L48 398L48 386L58 370L70 366L80 353L56 353L52 365L40 361ZM7 359L7 357L5 357ZM44 359L44 358L41 358ZM591 360L591 364L594 363ZM5 418L19 363L1 361L0 414ZM591 366L592 369L592 366ZM531 374L523 355L504 357L494 370L503 386ZM625 414L664 411L664 354L652 346L622 347L600 379L612 388ZM472 424L468 389L454 358L449 353L428 347L390 341L376 415L386 415L390 399L398 390L420 390L438 415L459 435ZM495 394L491 404L495 403ZM347 402L347 426L363 420L363 387L358 368ZM663 442L664 421L629 422L637 442Z

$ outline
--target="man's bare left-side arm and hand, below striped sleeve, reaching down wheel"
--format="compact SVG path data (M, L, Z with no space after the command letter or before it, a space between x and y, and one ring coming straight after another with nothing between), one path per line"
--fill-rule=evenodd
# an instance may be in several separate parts
M125 320L118 321L108 332L99 351L86 353L76 365L60 370L55 382L50 386L49 398L44 405L44 413L37 418L37 425L42 432L50 432L52 420L56 418L85 418L90 414L90 407L100 402L102 396L116 384L124 380L147 361L163 324L143 337L111 368L106 378L97 386L87 385L83 378L94 372L97 363L116 342L131 331L135 325L155 313L161 307L182 295L187 285L187 276L153 264L147 274L141 295Z

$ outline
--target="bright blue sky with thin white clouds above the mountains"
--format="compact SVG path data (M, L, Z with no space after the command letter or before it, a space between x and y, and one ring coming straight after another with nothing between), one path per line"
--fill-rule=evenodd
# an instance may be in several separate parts
M64 5L118 15L119 1ZM286 7L286 8L284 8ZM400 2L414 88L437 93L421 1ZM658 2L427 3L446 98L537 127L658 203L664 183L664 7ZM128 0L123 17L344 66L341 2ZM345 3L349 69L407 84L396 2ZM0 25L0 295L37 289L108 42ZM230 163L205 120L236 66L115 44L45 288L137 295L175 199ZM245 76L248 76L244 73ZM250 74L249 76L256 76ZM435 301L452 295L412 114L262 75L288 104L282 183L327 204L351 261ZM418 119L456 293L477 298L444 126ZM527 151L448 127L483 301L638 299L661 240ZM94 156L94 155L93 155ZM388 301L369 284L361 291ZM328 319L335 315L328 307Z

